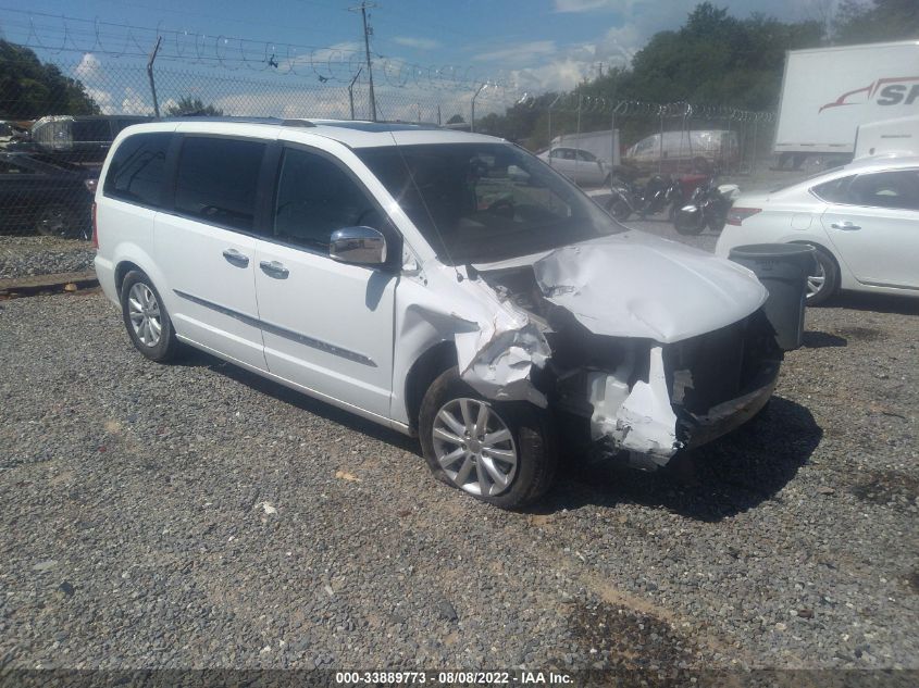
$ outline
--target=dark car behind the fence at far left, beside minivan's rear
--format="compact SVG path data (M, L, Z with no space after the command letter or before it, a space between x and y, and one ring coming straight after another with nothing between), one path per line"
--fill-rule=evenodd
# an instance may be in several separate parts
M0 152L0 227L88 239L97 176L40 153Z

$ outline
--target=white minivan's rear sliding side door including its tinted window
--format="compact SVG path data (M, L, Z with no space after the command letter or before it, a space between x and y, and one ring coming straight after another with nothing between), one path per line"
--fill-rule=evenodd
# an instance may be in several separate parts
M157 214L157 264L176 332L265 368L256 303L254 216L261 140L185 135L171 210Z

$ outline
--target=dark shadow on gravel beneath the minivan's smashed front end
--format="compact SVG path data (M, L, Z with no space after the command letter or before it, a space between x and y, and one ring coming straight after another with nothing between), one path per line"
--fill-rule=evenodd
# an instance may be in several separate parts
M715 523L768 500L781 501L778 493L807 463L822 435L810 411L773 397L734 433L674 456L655 473L567 462L556 489L533 511L634 503Z

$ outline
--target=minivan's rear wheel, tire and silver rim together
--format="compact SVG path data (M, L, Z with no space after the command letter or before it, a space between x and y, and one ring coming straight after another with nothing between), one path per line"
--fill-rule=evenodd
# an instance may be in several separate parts
M169 313L150 278L138 270L125 275L121 289L122 318L134 347L151 361L165 363L178 352Z

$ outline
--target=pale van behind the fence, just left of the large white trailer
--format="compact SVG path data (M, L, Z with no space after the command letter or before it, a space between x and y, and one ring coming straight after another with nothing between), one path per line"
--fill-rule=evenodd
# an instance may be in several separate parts
M649 172L711 174L740 160L737 133L696 129L651 134L625 151L623 163Z

